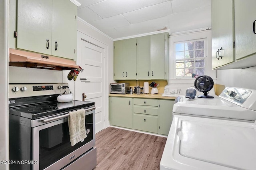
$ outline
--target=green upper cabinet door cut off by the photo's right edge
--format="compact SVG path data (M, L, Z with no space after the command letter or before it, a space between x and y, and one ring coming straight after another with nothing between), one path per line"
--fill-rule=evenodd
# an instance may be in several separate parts
M234 0L236 59L256 53L255 7L255 0Z

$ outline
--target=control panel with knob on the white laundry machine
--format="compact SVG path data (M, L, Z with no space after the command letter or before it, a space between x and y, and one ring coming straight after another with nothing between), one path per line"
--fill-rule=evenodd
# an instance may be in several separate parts
M226 87L219 97L241 106L251 93L252 91L247 89Z

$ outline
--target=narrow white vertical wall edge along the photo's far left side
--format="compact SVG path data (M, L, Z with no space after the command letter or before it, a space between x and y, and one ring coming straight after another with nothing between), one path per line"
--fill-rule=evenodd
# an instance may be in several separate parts
M9 160L8 133L8 0L0 0L0 160ZM8 165L0 164L1 170Z

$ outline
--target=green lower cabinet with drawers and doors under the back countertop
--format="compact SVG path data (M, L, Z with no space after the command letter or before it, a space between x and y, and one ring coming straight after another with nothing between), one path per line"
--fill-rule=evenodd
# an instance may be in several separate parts
M168 135L174 100L109 97L110 125Z

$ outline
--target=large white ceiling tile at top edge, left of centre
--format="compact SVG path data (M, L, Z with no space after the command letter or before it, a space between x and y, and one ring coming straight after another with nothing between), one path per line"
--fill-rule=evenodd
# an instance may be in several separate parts
M143 8L143 6L138 0L104 0L97 4L90 5L89 8L100 17L108 18L138 10Z

